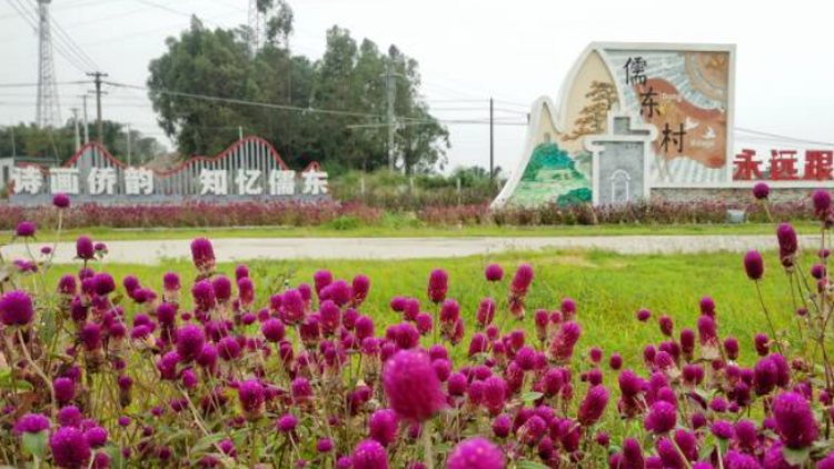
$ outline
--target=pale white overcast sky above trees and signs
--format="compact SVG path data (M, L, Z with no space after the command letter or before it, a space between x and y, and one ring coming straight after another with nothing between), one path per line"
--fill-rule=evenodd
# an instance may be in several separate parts
M33 83L37 36L10 2L31 9L34 0L0 0L0 83ZM502 101L498 116L518 121L537 97L556 98L592 41L735 43L736 127L834 141L834 6L826 0L295 0L291 6L296 53L319 58L325 30L334 24L384 50L394 43L419 61L426 99L444 119L485 119L492 96ZM191 13L209 27L228 28L245 23L247 11L248 0L52 0L54 20L111 80L140 86L148 62L163 52L167 37L188 27ZM59 82L85 79L59 53L56 64ZM60 87L63 119L87 88ZM162 137L142 91L109 92L107 119ZM0 88L0 124L33 120L34 100L33 87ZM92 116L95 108L89 110ZM488 164L487 126L449 128L450 166ZM496 128L496 164L516 164L525 130Z

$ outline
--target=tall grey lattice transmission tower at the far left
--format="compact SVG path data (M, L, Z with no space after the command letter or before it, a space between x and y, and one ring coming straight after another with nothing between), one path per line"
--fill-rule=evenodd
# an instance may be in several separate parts
M52 34L50 32L49 4L52 0L38 0L38 109L36 122L40 127L61 124L61 108L58 103L58 82L52 57Z

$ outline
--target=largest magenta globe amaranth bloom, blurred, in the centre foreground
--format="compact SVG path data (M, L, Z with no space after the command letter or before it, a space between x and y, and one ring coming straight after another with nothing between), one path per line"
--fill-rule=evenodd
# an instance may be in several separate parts
M406 421L423 422L446 407L427 353L403 350L391 357L383 371L383 387L397 416Z

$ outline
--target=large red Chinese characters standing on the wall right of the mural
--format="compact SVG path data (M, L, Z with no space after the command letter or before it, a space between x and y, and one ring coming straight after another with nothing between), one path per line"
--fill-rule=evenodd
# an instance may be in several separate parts
M832 181L834 180L834 151L771 150L758 154L745 149L733 161L735 181Z

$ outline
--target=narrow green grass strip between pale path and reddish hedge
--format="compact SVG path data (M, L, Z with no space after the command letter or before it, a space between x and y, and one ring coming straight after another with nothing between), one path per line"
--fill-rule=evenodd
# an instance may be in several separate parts
M818 232L818 223L794 223L800 233ZM46 227L44 227L46 228ZM554 226L554 227L411 227L378 226L339 229L321 227L252 227L252 228L182 228L182 229L113 229L86 228L64 231L63 240L72 240L80 234L92 236L96 240L136 239L193 239L200 236L211 238L497 238L497 237L579 237L579 236L639 236L639 234L772 234L771 223L745 224L607 224L607 226ZM11 237L10 231L0 232ZM38 239L49 242L54 231L42 229Z

